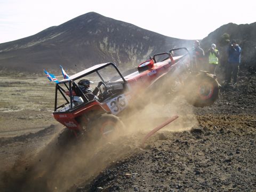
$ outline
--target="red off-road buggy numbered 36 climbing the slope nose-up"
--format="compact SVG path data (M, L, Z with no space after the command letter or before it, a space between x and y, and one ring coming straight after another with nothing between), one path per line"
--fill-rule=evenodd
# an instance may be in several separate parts
M173 51L177 56L172 56ZM114 63L85 69L56 84L53 116L75 135L83 132L108 137L124 126L119 117L143 107L149 100L165 97L168 102L168 97L180 92L191 105L212 105L219 96L219 83L206 71L193 71L190 58L189 51L181 47L153 55L126 76ZM92 88L101 82L97 99L90 100L82 92L78 86L81 79L93 81Z

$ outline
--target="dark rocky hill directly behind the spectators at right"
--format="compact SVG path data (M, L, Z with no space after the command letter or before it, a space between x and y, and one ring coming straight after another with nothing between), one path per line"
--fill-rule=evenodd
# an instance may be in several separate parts
M234 23L223 25L205 37L201 45L204 50L207 50L212 43L215 43L221 51L220 54L225 54L227 46L223 43L223 39L228 39L230 42L232 39L235 39L239 46L241 46L242 65L256 66L256 22L250 25L237 25Z

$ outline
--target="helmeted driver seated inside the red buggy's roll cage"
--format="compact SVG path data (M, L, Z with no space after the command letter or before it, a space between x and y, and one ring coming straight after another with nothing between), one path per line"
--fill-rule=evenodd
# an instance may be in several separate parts
M78 82L78 86L79 88L83 91L83 93L85 95L88 96L88 100L91 101L91 100L96 100L98 99L97 97L97 94L99 92L99 86L101 85L100 83L98 84L97 87L95 87L95 90L92 91L92 88L90 87L90 84L93 83L92 81L90 80L87 80L87 79L82 79Z

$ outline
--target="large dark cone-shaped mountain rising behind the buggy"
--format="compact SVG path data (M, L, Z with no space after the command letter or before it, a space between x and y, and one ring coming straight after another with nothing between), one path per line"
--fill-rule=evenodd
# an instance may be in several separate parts
M149 55L192 44L89 12L33 36L0 44L0 70L41 73L44 68L59 71L62 65L67 71L77 71L104 62L132 68Z

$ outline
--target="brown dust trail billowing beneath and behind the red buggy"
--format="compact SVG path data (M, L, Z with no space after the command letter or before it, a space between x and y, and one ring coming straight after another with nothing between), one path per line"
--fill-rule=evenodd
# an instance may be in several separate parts
M158 98L159 101L159 98ZM57 137L46 147L35 153L35 157L25 163L15 165L15 169L5 172L2 177L4 191L66 191L90 182L100 171L118 163L141 150L145 135L166 119L178 115L164 131L189 130L197 124L190 105L181 95L169 102L151 101L143 109L134 109L130 117L122 117L126 129L113 140L88 141L83 137L57 145ZM22 162L20 157L20 162Z

